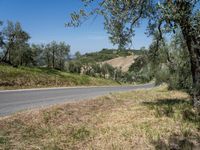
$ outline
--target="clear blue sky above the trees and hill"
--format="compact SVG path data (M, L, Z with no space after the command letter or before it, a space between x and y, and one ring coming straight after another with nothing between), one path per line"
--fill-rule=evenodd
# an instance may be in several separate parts
M114 48L103 27L103 18L91 18L79 28L66 28L70 12L78 10L80 0L0 0L0 20L19 21L31 36L31 43L65 41L71 52L81 53ZM133 48L148 47L145 25L136 30Z

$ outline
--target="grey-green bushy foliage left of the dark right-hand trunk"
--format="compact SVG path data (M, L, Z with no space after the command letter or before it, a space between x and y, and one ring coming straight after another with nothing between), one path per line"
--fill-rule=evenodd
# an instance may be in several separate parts
M149 60L154 72L156 83L166 82L170 89L191 90L192 75L189 54L181 34L176 34L169 44L162 43L159 53L155 43L150 46Z

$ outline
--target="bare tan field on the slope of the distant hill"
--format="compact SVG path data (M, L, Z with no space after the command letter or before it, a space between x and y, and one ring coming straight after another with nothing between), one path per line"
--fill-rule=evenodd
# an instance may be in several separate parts
M104 61L103 63L108 63L115 68L121 69L123 72L127 72L132 63L134 63L134 59L136 59L137 57L137 55L117 57L114 59Z

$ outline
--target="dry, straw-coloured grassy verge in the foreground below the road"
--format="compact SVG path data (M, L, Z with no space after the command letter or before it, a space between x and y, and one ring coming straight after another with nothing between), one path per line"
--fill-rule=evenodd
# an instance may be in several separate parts
M200 118L166 87L110 94L0 119L2 149L198 149Z

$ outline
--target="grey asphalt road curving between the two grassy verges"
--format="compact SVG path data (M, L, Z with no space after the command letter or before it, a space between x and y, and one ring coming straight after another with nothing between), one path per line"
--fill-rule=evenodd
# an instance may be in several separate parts
M152 88L154 84L115 87L46 88L0 91L0 116L53 104L84 100L111 92Z

